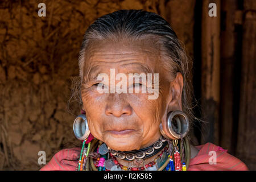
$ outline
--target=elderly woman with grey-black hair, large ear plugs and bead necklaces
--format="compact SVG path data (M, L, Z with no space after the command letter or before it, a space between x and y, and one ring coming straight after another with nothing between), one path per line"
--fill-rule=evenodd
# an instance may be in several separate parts
M212 143L189 143L191 60L157 14L120 10L85 32L80 58L81 148L57 152L42 170L247 170Z

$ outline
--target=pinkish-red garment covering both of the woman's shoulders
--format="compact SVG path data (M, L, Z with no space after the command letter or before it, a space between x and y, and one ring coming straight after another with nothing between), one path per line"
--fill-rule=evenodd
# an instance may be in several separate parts
M199 153L191 159L188 171L247 171L246 165L236 157L228 154L227 150L212 143L196 146ZM81 148L67 148L57 152L53 158L42 167L42 171L75 171ZM216 156L216 164L213 157ZM210 164L209 162L212 162Z

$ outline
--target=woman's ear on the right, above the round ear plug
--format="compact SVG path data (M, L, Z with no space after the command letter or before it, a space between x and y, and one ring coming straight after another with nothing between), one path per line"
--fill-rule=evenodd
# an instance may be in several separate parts
M170 83L170 94L168 103L168 113L173 110L182 110L183 76L177 72L176 78Z

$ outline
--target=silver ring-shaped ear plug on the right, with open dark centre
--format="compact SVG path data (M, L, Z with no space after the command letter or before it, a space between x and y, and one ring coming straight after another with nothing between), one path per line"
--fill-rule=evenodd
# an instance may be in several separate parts
M183 111L172 111L168 114L167 121L160 123L159 128L164 138L184 138L189 131L188 117Z

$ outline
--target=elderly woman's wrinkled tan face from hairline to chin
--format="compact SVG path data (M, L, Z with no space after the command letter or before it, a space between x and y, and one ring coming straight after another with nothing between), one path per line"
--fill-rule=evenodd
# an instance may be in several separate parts
M84 78L81 97L90 132L110 148L118 151L139 150L160 138L159 124L166 119L168 106L174 100L172 82L163 68L159 48L150 40L131 42L94 41L85 52ZM112 69L112 75L110 74ZM159 73L159 95L149 100L153 93L100 93L97 76L108 75L104 86L110 88L110 77L123 73ZM115 84L120 80L115 80ZM112 82L113 84L113 82ZM130 84L127 89L146 85ZM152 85L154 87L154 84ZM181 86L182 90L182 86ZM176 98L175 98L176 100Z

